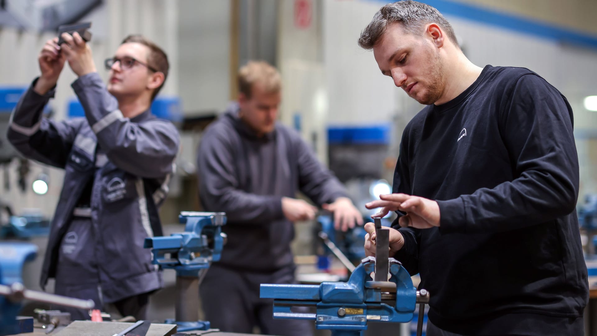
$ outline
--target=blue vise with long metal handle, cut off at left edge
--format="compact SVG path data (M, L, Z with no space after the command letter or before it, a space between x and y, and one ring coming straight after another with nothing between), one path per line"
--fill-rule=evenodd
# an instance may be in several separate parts
M37 246L30 243L0 243L0 335L33 332L33 317L17 317L21 301L33 300L81 309L94 307L93 300L79 300L44 292L30 291L23 286L23 264L32 261Z

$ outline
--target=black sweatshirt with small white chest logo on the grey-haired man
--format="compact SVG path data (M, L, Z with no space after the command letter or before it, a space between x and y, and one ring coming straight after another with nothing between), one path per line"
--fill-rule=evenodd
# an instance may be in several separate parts
M438 201L440 227L400 228L395 257L420 273L439 328L568 335L580 322L573 114L543 78L486 66L458 97L426 106L404 130L393 192Z

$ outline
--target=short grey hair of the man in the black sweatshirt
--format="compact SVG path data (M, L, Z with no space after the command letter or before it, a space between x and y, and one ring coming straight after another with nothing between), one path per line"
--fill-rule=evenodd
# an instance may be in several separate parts
M457 48L458 41L450 22L434 7L417 1L398 1L381 7L367 28L361 32L359 45L370 50L379 42L390 23L399 22L405 32L420 35L423 26L437 23Z

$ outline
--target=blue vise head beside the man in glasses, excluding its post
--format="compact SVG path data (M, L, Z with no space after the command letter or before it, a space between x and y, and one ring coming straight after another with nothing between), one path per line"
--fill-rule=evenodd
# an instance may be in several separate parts
M226 243L226 234L221 231L226 214L183 211L179 220L185 224L184 232L146 238L144 247L151 249L153 264L173 268L180 276L196 276L211 262L220 260Z

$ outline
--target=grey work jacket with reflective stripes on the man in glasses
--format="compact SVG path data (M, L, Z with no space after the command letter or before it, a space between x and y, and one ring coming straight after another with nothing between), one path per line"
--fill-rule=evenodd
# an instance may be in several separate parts
M40 96L34 85L35 81L14 109L8 139L25 157L65 172L42 268L42 288L48 278L56 277L61 241L88 183L92 183L90 230L97 241L95 249L81 253L95 253L103 301L161 288L161 273L151 263L143 241L161 235L158 206L174 170L180 142L176 127L149 110L132 119L123 117L97 73L72 84L85 118L42 117L54 90Z

